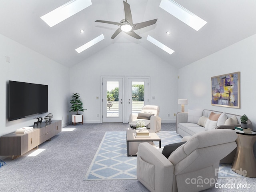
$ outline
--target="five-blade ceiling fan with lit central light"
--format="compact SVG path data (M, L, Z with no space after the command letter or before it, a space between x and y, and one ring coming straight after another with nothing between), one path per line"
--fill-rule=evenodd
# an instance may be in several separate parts
M120 22L103 21L103 20L96 20L95 22L108 23L108 24L120 26L116 30L116 32L114 32L114 34L112 35L111 37L112 39L114 39L122 31L136 39L141 39L142 37L136 34L134 30L153 25L157 21L157 19L153 19L153 20L133 24L130 5L125 1L124 1L124 15L125 15L125 18L122 19Z

